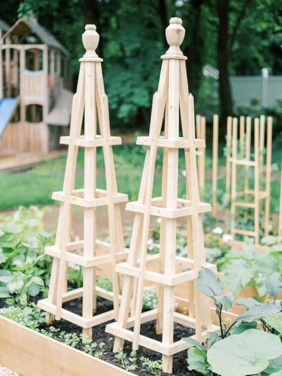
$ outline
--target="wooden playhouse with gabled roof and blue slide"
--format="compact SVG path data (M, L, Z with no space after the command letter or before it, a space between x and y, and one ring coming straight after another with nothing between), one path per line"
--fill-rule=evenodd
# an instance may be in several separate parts
M0 38L0 151L58 147L70 124L70 55L34 17Z

